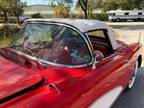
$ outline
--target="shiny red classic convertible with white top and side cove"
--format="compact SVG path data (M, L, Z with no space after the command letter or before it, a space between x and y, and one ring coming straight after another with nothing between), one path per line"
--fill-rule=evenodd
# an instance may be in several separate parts
M103 22L29 19L0 49L0 108L110 108L141 63Z

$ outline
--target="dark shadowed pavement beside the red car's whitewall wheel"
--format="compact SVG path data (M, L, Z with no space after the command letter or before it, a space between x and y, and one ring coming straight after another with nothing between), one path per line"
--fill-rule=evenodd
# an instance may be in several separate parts
M124 92L112 108L144 108L144 67L138 71L134 87Z

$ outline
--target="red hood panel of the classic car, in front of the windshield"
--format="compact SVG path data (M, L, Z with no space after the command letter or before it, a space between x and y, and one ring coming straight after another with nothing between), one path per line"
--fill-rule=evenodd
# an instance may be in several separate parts
M0 56L0 103L17 96L17 93L29 87L33 87L42 79L43 76L36 68L20 65Z

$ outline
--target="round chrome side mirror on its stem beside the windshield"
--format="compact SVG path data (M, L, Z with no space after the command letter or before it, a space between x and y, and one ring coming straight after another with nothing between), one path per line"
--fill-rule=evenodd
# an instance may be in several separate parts
M94 51L94 57L95 57L95 59L94 59L94 62L92 64L92 69L96 69L96 63L103 60L104 55L101 51L96 50L96 51Z

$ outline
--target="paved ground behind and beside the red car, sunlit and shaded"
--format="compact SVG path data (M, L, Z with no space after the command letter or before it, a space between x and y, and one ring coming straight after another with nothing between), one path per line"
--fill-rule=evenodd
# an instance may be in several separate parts
M128 44L137 42L141 32L141 43L144 45L144 23L109 23L109 25L116 31L116 38ZM144 108L144 56L134 87L122 93L112 108Z

